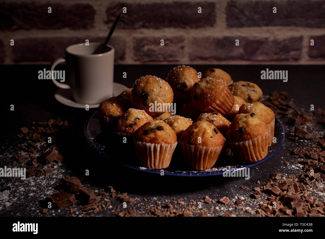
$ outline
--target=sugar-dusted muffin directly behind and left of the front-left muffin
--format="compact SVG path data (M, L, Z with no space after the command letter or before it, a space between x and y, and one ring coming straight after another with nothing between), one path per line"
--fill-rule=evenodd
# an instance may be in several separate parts
M117 121L113 132L121 138L131 137L138 128L149 121L153 121L153 118L144 110L131 108Z

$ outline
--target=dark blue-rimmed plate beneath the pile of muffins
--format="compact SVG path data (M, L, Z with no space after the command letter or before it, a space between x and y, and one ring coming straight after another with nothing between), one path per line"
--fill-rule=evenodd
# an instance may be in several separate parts
M118 140L113 135L104 135L101 133L97 111L95 111L87 120L84 132L86 141L89 143L90 147L92 147L99 155L103 156L105 159L112 160L117 164L133 168L135 170L154 174L161 173L159 169L149 169L138 165L138 161L134 152L133 142L131 142L132 140L129 140L130 142L123 143L122 139ZM190 168L187 168L182 161L182 155L180 153L179 147L177 146L170 166L164 169L164 175L182 177L205 177L222 175L225 171L228 171L229 166L231 171L239 171L245 168L254 167L270 159L275 153L279 151L284 142L284 129L277 118L275 118L274 137L277 138L277 142L270 145L268 147L268 154L266 157L256 163L247 165L238 164L232 153L230 153L227 156L220 155L215 165L212 168L204 171L194 171Z

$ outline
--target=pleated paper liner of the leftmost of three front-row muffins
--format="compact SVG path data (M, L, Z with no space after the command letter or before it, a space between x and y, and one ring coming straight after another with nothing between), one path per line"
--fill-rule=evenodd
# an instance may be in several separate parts
M177 142L173 144L155 144L138 142L134 139L134 145L141 166L162 169L169 166Z

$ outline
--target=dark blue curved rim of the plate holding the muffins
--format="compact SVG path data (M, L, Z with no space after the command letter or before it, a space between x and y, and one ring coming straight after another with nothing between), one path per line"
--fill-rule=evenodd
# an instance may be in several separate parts
M87 121L85 123L85 128L84 128L85 139L86 139L87 143L91 146L91 148L94 151L96 151L101 157L104 157L105 159L109 159L109 160L111 160L111 161L113 161L113 162L115 162L115 163L117 163L119 165L122 165L122 166L125 166L125 167L128 167L128 168L132 168L134 170L138 170L138 171L146 172L146 173L153 173L153 174L160 174L161 173L161 171L160 171L161 169L150 169L150 168L141 169L140 166L126 164L126 163L124 163L124 162L122 162L120 160L117 160L117 159L111 157L110 155L102 152L101 150L99 150L98 147L94 144L94 142L91 139L91 137L89 136L89 133L88 133L88 130L87 130L88 125L89 125L89 122L94 117L95 114L97 114L97 110L87 119ZM260 161L257 161L255 163L252 163L252 164L247 164L247 165L233 165L231 167L235 167L235 166L239 166L239 167L238 168L236 167L236 170L232 170L231 172L233 172L233 171L239 171L239 170L242 170L244 168L251 168L251 167L254 167L256 165L262 164L265 161L267 161L268 159L270 159L272 156L274 156L280 150L280 148L283 145L284 139L285 139L285 131L284 131L283 125L281 124L281 122L279 121L279 119L277 117L274 117L274 118L275 118L275 123L277 123L277 122L279 123L279 126L280 126L280 128L282 130L281 133L283 133L283 138L282 138L281 142L278 143L278 145L274 149L274 151L272 152L272 155L271 154L267 154L264 159L262 159ZM225 166L225 168L226 167L228 167L228 166ZM224 172L228 172L229 170L227 170L227 171L212 171L212 172L206 172L204 170L202 170L202 171L196 170L196 171L199 171L199 173L193 173L193 174L191 174L191 173L178 173L178 172L164 171L164 175L174 176L174 177L209 177L209 176L220 176Z

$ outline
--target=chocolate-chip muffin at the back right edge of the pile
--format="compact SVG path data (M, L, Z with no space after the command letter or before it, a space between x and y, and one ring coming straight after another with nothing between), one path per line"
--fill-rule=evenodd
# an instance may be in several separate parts
M263 92L256 84L248 81L237 81L229 86L234 96L240 96L247 103L262 100Z

